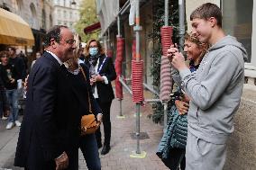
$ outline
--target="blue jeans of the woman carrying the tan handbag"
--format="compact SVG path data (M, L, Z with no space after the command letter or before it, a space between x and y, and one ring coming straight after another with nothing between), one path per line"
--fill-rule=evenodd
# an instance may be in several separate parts
M80 149L87 162L88 170L100 170L101 164L98 156L95 134L80 137Z

